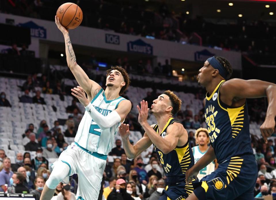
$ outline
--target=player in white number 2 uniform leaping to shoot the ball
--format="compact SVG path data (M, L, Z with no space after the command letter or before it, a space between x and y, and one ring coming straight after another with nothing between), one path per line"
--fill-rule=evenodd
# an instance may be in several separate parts
M69 176L78 174L77 199L94 200L98 199L107 154L112 149L118 126L131 109L130 101L120 97L130 80L123 68L113 67L107 70L107 87L104 91L77 64L68 30L60 24L57 17L55 20L64 35L68 67L80 85L72 89L72 95L79 99L86 111L79 124L75 142L51 165L53 171L40 199L50 200L61 181L68 183Z

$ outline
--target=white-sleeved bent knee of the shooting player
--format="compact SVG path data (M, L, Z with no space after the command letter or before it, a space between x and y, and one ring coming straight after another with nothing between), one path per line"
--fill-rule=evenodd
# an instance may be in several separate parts
M50 189L55 189L56 186L69 174L69 166L62 161L58 161L58 163L55 164L55 167L49 177L49 179L46 181L46 185Z

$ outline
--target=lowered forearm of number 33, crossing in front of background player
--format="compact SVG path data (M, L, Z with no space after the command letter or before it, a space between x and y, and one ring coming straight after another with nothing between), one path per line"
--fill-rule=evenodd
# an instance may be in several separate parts
M210 162L214 161L215 158L215 151L213 147L210 146L207 152L197 161L197 163L186 171L186 184L191 183L194 176L197 176L199 170L205 168Z

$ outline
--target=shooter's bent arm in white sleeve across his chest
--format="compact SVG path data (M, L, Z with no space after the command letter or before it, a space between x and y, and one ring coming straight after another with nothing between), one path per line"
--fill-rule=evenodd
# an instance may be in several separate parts
M77 86L76 88L71 89L71 91L71 94L79 99L79 102L81 102L85 107L85 110L102 130L111 128L115 124L123 121L131 109L131 102L125 99L119 103L117 109L113 110L107 116L103 116L86 98L82 87Z

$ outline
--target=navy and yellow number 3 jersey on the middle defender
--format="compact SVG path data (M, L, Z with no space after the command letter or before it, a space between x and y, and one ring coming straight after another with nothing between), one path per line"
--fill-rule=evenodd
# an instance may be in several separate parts
M170 118L160 134L161 137L164 138L166 136L167 127L172 123L180 122L174 120L174 118ZM158 124L156 124L153 129L158 134ZM164 169L168 184L185 181L185 172L194 165L194 157L191 146L189 145L189 137L185 145L182 147L176 146L176 148L168 154L163 153L155 145L154 147Z

